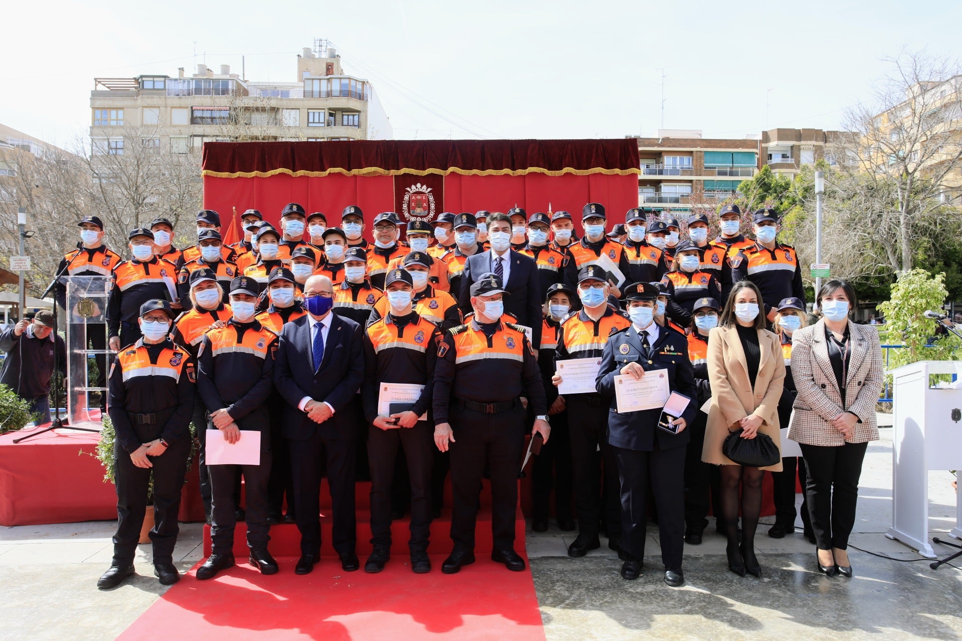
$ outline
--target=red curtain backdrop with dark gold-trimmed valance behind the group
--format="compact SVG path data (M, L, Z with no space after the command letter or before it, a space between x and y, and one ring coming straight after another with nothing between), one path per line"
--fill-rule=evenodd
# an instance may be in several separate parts
M328 224L357 205L369 221L395 208L394 177L443 176L443 208L528 212L601 203L611 224L638 206L638 147L624 140L363 140L209 142L204 207L254 208L277 223L291 202L323 211ZM369 233L369 230L367 230Z

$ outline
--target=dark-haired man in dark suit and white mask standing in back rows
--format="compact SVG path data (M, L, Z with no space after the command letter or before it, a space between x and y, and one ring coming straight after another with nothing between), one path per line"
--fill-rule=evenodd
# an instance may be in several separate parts
M489 216L488 240L490 250L469 256L465 262L458 306L466 315L472 312L471 285L484 274L494 274L510 294L505 298L504 310L517 318L519 325L531 328L532 345L541 345L543 314L538 265L531 257L511 249L511 218L507 215Z

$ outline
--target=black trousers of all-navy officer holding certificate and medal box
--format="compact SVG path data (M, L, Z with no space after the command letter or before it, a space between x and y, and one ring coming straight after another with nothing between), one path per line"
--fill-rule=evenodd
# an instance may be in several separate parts
M648 490L658 508L658 535L667 570L681 568L685 546L685 448L638 452L614 448L621 481L621 550L645 556Z

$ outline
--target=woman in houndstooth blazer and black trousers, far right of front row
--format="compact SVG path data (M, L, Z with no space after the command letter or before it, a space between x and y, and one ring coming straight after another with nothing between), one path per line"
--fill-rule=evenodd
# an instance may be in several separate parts
M862 460L878 440L875 403L882 389L882 351L873 327L848 320L855 291L828 281L816 298L823 318L792 336L797 397L788 437L808 467L806 499L815 530L819 570L851 577L848 535Z

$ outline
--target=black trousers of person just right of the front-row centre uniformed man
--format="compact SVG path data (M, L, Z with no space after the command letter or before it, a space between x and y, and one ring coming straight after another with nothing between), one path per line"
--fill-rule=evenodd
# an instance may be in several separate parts
M532 516L547 521L551 512L551 490L554 490L554 515L559 521L571 520L571 444L568 412L551 416L551 437L541 454L531 463Z

